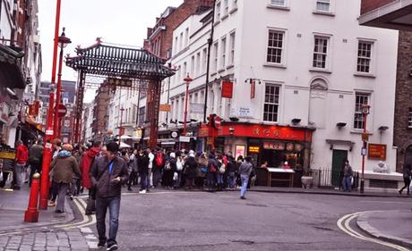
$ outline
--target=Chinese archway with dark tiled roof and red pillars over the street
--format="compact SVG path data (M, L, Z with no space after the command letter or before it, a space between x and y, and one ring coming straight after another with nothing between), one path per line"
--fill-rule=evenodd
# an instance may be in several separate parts
M85 79L90 74L110 79L138 80L132 81L134 86L129 88L144 88L147 91L148 115L151 118L149 146L157 146L161 81L175 74L165 66L166 61L145 49L108 45L99 39L93 46L76 48L76 54L66 57L66 65L79 74L73 141L80 141Z

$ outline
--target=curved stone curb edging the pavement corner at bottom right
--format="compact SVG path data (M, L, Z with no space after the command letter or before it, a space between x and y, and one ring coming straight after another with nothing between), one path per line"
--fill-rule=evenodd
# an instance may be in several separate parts
M376 213L376 212L374 212ZM412 248L412 241L407 238L399 238L396 236L386 235L382 233L380 230L376 230L369 224L369 218L372 213L364 213L357 217L356 225L359 229L363 230L365 233L373 236L373 238L382 239L384 241L388 241L394 244L397 244L402 247L409 247Z

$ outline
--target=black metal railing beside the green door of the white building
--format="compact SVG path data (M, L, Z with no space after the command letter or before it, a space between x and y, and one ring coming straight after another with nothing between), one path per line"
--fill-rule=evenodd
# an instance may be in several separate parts
M313 187L317 188L342 188L343 175L340 171L334 171L332 169L313 169ZM354 172L354 181L352 189L359 187L359 172Z

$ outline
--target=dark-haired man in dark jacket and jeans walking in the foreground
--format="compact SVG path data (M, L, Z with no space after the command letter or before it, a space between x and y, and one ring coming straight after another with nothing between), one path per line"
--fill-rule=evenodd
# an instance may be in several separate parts
M117 250L116 235L119 226L120 197L122 184L128 180L127 165L117 156L119 145L107 144L107 156L94 161L90 169L90 179L96 188L96 226L99 234L98 247L107 251ZM106 236L106 214L109 210L109 231Z

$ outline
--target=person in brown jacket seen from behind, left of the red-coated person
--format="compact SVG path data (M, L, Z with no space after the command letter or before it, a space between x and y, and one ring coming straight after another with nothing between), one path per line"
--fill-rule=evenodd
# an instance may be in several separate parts
M81 176L76 158L72 155L73 146L65 144L62 146L56 158L50 164L53 170L53 181L57 184L56 213L64 213L64 201L69 184L73 181L73 174Z

